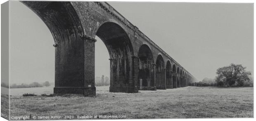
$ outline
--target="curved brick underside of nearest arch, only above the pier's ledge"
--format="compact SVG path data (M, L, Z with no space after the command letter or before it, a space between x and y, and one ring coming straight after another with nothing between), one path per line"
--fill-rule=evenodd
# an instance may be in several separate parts
M47 25L55 43L74 41L84 34L80 18L70 2L21 2Z

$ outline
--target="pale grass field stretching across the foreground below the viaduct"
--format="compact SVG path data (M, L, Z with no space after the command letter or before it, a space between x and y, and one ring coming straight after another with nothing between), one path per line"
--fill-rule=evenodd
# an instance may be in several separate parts
M253 117L253 87L183 87L96 97L11 96L11 116L125 115L126 119Z

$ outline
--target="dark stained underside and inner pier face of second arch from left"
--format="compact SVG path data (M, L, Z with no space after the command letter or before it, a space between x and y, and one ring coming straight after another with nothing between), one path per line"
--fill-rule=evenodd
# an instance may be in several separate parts
M99 37L109 52L111 92L123 92L129 87L133 48L130 39L121 26L113 22L102 24L97 30Z

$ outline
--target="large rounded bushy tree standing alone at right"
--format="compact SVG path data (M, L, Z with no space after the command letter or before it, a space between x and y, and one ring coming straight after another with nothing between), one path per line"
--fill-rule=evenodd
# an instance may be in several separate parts
M217 69L216 82L218 86L244 86L244 82L249 80L249 71L245 71L246 67L241 64L230 64Z

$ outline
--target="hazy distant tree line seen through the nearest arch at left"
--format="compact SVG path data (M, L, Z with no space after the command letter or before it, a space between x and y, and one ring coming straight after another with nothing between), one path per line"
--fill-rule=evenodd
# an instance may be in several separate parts
M49 87L50 86L50 82L46 81L43 83L38 83L38 82L32 82L30 84L12 84L10 85L10 88L31 88L31 87ZM1 87L7 87L9 88L8 84L5 84L4 82L1 83Z

